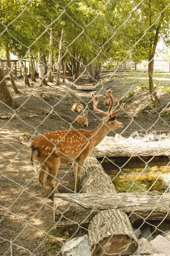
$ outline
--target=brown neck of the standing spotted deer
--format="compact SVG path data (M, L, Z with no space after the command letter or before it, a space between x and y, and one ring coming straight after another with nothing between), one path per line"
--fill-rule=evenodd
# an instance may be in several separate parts
M101 143L101 141L106 137L109 131L111 131L111 128L105 125L104 121L102 121L94 130L92 130L94 134L94 147Z

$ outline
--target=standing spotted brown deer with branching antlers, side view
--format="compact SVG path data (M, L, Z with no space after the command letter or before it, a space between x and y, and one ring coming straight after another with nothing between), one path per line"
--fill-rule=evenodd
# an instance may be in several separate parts
M99 97L96 101L94 94L92 94L94 110L104 115L102 122L95 129L90 131L84 129L48 131L32 141L31 165L36 172L35 160L40 164L39 181L46 196L49 194L45 186L45 173L48 173L48 185L51 186L54 193L59 193L55 186L55 177L59 166L69 163L73 163L74 192L78 192L80 173L88 155L91 154L94 147L105 138L109 131L123 127L123 124L116 120L116 114L122 110L123 104L119 110L111 113L119 96L113 100L111 90L108 90L108 94L111 99L111 105L107 112L97 108Z

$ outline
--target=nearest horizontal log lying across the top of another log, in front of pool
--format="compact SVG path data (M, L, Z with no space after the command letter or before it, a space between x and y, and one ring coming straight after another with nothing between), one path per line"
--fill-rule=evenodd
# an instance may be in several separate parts
M108 209L119 209L128 213L131 221L144 218L147 221L163 220L165 217L170 220L170 193L55 194L54 207L57 208L55 221L61 219L61 225L88 223L95 214Z

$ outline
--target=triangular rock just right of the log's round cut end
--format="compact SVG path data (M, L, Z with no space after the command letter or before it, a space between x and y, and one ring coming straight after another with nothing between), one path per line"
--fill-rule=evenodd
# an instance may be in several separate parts
M141 238L138 240L138 249L135 255L150 255L152 253L157 253L157 251L147 239Z

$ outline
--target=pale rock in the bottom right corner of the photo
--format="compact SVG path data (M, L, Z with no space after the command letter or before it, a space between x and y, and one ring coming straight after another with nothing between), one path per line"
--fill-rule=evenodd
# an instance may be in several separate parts
M170 254L170 241L161 235L156 236L156 238L150 242L158 253Z

